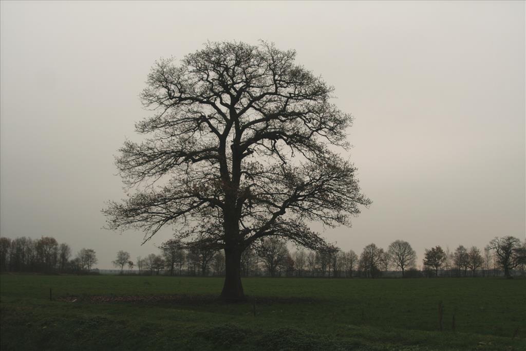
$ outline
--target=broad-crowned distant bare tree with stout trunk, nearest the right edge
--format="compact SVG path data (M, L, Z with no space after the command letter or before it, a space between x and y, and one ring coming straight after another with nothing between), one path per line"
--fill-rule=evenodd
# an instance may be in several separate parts
M521 252L521 240L513 236L495 237L487 246L493 250L497 264L506 278L512 278L511 269L519 266L526 257Z

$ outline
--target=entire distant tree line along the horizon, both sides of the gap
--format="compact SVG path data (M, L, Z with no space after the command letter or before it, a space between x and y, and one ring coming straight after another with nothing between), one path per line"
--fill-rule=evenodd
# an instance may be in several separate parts
M97 263L93 249L83 248L70 259L70 247L52 237L0 239L2 272L86 273ZM121 274L225 274L223 250L205 244L183 248L176 240L163 244L158 254L139 256L135 262L120 250L113 264ZM417 268L416 252L403 240L392 242L386 250L371 243L358 256L353 250L338 248L290 252L282 240L272 237L246 249L241 257L241 275L245 277L512 277L525 273L526 242L512 236L495 237L483 250L463 245L454 252L440 246L426 249L421 269Z

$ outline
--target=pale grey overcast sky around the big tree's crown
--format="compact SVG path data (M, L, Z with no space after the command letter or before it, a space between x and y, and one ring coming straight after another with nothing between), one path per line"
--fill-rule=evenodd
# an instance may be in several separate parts
M323 235L358 254L525 233L524 2L2 2L0 234L53 236L99 268L160 233L102 229L113 155L151 65L209 41L275 42L335 86L373 200ZM420 260L419 260L420 261ZM419 262L419 264L421 264Z

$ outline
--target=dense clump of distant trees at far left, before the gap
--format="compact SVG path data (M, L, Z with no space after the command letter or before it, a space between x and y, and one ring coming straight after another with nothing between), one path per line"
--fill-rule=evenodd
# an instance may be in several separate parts
M85 274L97 264L95 250L81 249L72 258L71 247L50 236L40 239L0 237L2 272Z

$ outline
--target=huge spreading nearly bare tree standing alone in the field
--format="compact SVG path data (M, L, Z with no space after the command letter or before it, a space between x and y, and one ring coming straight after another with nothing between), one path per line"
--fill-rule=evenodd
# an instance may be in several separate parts
M330 102L333 88L297 65L294 51L262 42L207 43L180 65L158 61L141 94L156 114L136 124L116 165L127 199L103 212L110 229L135 228L144 241L165 226L176 238L225 250L221 297L244 298L242 252L280 236L330 246L308 223L350 225L361 194L347 149L350 114Z

